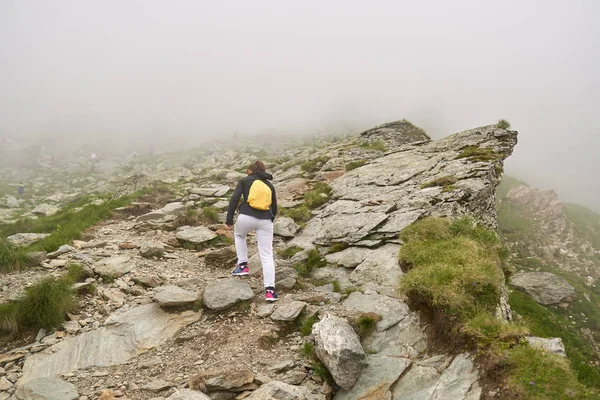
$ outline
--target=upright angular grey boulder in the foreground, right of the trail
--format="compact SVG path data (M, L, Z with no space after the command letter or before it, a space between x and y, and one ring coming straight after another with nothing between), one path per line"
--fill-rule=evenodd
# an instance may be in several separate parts
M340 387L350 390L367 366L358 335L342 318L327 314L313 325L315 354Z

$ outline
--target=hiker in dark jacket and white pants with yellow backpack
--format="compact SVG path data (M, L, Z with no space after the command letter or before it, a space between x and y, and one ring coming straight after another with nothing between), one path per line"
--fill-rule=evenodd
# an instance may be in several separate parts
M279 299L275 292L275 262L273 260L273 221L277 215L277 198L275 188L269 182L273 176L266 173L265 170L265 164L262 161L256 161L247 168L248 176L238 182L229 201L226 224L229 228L233 226L233 214L240 198L244 196L233 234L237 267L232 274L234 276L248 275L246 236L248 233L256 231L258 253L263 268L265 300L272 302Z

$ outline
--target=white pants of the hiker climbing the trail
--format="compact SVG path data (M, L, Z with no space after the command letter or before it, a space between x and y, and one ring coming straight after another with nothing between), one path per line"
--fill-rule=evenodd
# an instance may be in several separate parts
M235 223L235 251L238 264L248 262L246 236L256 231L258 254L263 267L265 287L275 287L275 262L273 261L273 222L270 219L258 219L246 214L239 214Z

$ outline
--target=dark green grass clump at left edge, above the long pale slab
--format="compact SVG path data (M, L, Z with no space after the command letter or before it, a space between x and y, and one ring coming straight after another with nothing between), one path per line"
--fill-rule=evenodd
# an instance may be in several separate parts
M25 288L17 301L0 305L0 329L7 332L24 329L54 329L64 321L67 312L77 308L70 276L49 277Z

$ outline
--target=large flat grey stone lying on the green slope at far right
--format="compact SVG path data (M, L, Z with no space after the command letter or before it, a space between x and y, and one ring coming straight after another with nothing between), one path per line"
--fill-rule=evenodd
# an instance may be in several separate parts
M543 305L558 304L575 293L575 288L550 272L517 272L510 284Z

